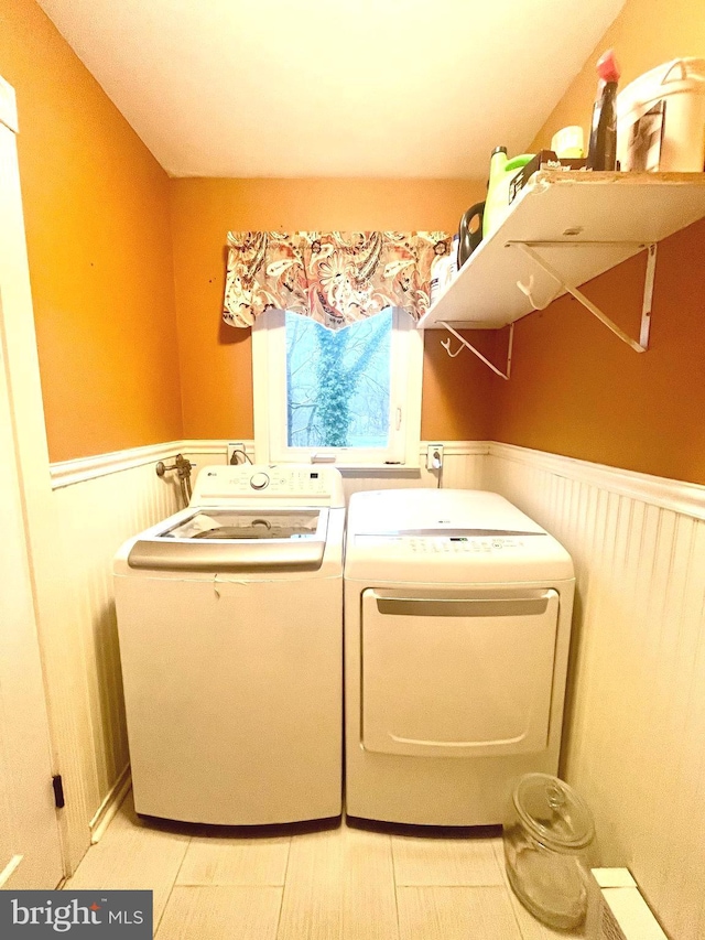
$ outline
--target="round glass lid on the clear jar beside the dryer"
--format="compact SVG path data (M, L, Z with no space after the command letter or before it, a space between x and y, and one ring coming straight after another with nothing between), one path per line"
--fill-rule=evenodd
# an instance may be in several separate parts
M557 777L525 774L512 792L514 808L527 830L558 851L589 845L595 823L585 800Z

